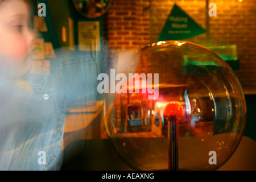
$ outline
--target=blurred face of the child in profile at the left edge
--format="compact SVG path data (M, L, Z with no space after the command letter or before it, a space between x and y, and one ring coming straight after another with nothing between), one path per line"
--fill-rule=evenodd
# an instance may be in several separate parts
M22 0L0 4L0 76L16 79L31 69L34 35L29 30L29 9Z

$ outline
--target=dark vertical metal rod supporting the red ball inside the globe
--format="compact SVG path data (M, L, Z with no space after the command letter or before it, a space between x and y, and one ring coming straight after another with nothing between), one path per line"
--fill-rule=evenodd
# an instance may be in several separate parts
M168 121L168 169L171 171L177 171L178 169L177 137L176 115L170 115Z

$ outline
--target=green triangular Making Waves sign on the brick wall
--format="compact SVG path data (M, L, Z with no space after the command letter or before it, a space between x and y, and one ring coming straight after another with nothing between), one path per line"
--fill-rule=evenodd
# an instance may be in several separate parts
M203 28L175 4L158 41L183 40L204 34L205 32Z

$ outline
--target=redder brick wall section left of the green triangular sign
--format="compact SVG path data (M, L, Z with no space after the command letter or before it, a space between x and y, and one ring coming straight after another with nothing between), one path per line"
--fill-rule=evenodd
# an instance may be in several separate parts
M150 43L149 1L114 0L108 11L108 39L117 49L133 49Z

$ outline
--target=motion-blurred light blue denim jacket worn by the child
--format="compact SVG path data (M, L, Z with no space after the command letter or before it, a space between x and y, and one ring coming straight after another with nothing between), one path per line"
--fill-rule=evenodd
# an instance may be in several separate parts
M52 61L51 75L28 73L23 86L1 80L0 170L60 169L66 110L97 99L97 74L94 55L75 52Z

